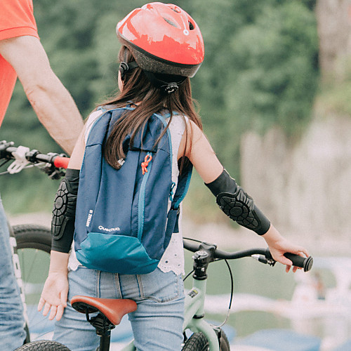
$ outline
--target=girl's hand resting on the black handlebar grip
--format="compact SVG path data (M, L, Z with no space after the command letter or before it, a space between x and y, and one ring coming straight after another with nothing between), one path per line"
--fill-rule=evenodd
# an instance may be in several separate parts
M290 241L284 239L284 237L279 234L273 225L271 225L270 230L268 230L268 232L263 235L263 238L267 242L267 245L270 248L270 253L272 254L274 260L282 263L282 265L286 265L286 272L289 272L291 269L292 262L289 260L289 258L286 258L284 256L284 253L295 253L296 255L302 257L309 256L307 250L303 248L303 246L292 244ZM298 267L293 267L293 272L296 272L296 270L298 270Z

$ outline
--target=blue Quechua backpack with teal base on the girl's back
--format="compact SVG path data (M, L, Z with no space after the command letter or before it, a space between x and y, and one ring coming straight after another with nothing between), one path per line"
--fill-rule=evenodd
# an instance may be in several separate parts
M156 269L172 233L178 232L179 205L189 187L192 165L180 173L174 192L169 128L155 145L169 114L153 114L135 134L133 145L127 135L126 159L119 170L107 164L102 146L128 110L133 110L130 105L105 111L88 134L79 176L74 249L88 268L145 274Z

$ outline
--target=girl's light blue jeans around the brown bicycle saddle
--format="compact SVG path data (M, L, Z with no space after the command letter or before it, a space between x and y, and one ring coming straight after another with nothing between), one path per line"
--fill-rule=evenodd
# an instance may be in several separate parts
M138 351L181 350L184 286L180 276L158 268L149 274L129 275L79 267L69 272L68 278L68 300L74 295L135 300L138 309L128 319ZM100 342L85 314L69 304L62 319L55 323L53 339L73 351L92 351Z

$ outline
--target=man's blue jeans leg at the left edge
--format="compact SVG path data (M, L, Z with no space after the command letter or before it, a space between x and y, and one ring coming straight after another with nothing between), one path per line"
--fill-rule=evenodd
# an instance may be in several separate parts
M13 271L4 207L0 199L0 350L13 351L25 341L20 289Z

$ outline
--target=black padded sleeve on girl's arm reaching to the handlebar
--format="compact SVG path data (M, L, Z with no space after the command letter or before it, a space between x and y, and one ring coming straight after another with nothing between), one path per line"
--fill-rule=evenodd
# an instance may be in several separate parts
M221 210L239 225L259 235L270 229L270 221L254 204L252 197L237 185L225 169L216 180L205 185L216 196Z

